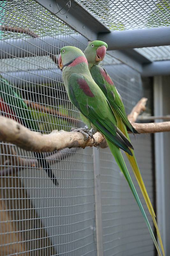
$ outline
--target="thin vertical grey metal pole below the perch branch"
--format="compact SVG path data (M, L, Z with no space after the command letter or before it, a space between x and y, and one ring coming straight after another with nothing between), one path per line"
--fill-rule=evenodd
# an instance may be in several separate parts
M97 256L103 256L102 207L100 187L100 153L93 147L94 194L96 215Z

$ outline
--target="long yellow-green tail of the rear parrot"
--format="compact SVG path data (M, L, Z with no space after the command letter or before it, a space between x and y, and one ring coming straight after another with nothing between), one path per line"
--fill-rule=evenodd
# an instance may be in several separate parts
M121 127L119 127L119 125L118 125L119 129L123 132L123 134L124 134L124 135L128 138L128 140L130 141L129 134L128 134L128 132L127 132L127 129L126 129L125 124L123 124L122 120L119 122L119 124L120 124L120 126L121 126ZM126 154L128 160L129 160L129 162L130 162L130 165L131 165L132 170L133 170L133 172L134 172L134 174L135 174L135 177L136 177L136 179L137 179L137 182L138 182L138 184L139 184L139 187L140 187L140 189L141 189L141 192L142 192L142 194L143 194L143 196L144 196L144 200L145 200L145 202L146 202L146 205L147 205L147 207L148 207L148 210L149 210L149 212L150 212L150 214L151 214L151 216L152 216L152 220L153 220L154 226L155 226L156 231L157 231L157 236L158 236L159 243L160 243L160 246L161 246L161 249L162 249L162 253L163 253L163 255L165 255L164 247L163 247L163 243L162 243L162 239L161 239L160 232L159 232L159 228L158 228L158 224L157 224L156 219L155 219L156 215L155 215L155 212L154 212L154 210L153 210L152 203L151 203L151 200L150 200L149 195L148 195L148 193L147 193L146 187L145 187L145 185L144 185L144 181L143 181L143 179L142 179L142 175L141 175L141 173L140 173L140 170L139 170L139 167L138 167L138 164L137 164L137 160L136 160L134 151L131 150L131 152L132 152L133 156L130 156L130 155L127 154L126 152L125 152L125 154Z

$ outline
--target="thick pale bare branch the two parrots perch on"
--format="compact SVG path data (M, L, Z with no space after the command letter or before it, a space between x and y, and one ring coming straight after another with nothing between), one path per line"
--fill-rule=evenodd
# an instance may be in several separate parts
M140 133L168 132L170 122L137 124L132 123ZM100 132L94 135L94 139L84 140L80 132L53 131L49 134L32 132L16 121L0 116L0 140L10 142L28 151L53 152L63 148L78 148L99 146L104 137Z

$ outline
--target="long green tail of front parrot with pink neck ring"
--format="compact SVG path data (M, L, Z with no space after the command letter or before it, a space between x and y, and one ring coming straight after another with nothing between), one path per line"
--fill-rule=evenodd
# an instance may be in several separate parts
M145 223L146 223L146 225L147 225L147 227L148 227L148 229L149 229L149 232L150 232L150 234L151 234L151 236L152 236L152 239L153 239L153 242L154 242L154 244L155 244L155 247L156 247L156 249L157 249L157 251L158 251L158 254L159 254L159 256L161 256L161 252L160 252L160 250L159 250L157 241L156 241L155 236L154 236L154 234L153 234L153 232L152 232L151 226L150 226L149 221L148 221L148 219L147 219L147 217L146 217L146 214L145 214L145 212L144 212L144 209L143 209L143 207L142 207L142 204L141 204L141 202L140 202L140 199L139 199L139 197L138 197L138 195L137 195L137 191L136 191L136 189L135 189L135 187L134 187L134 185L133 185L133 182L132 182L132 180L131 180L131 178L130 178L130 175L129 175L128 169L127 169L127 167L126 167L126 164L125 164L125 162L124 162L122 153L121 153L120 149L119 149L114 143L112 143L112 142L111 142L110 140L108 140L107 138L106 138L106 141L107 141L107 144L108 144L108 146L109 146L109 148L110 148L110 150L111 150L111 152L112 152L112 155L115 157L116 163L118 164L119 168L121 169L122 173L123 173L124 176L125 176L125 179L127 180L128 184L129 184L129 187L130 187L130 189L131 189L131 191L132 191L132 193L133 193L133 196L135 197L135 200L136 200L136 202L137 202L137 205L139 206L139 209L140 209L140 211L141 211L141 213L142 213L142 215L143 215L143 217L144 217Z

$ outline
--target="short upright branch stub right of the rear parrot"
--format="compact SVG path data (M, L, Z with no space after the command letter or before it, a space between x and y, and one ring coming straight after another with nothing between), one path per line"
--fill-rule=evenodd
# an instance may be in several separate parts
M146 110L146 102L147 102L147 98L142 98L141 100L139 100L136 104L136 106L132 109L131 113L128 115L128 119L130 122L136 122L137 117L139 116L139 114L142 111Z

